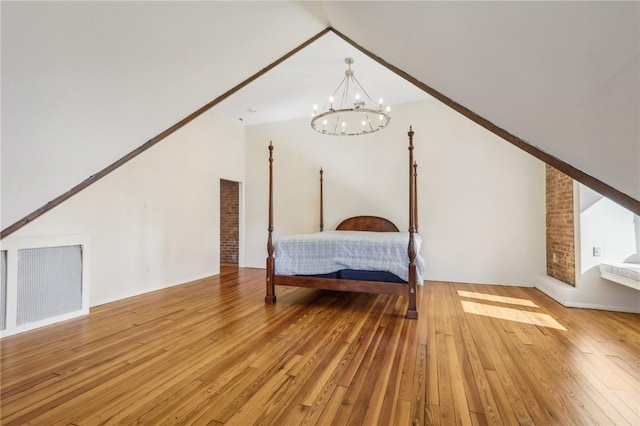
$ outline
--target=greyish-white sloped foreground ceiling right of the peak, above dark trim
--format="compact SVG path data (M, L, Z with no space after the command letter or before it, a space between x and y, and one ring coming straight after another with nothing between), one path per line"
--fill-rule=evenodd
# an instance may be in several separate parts
M387 62L640 199L638 2L325 7L333 27Z

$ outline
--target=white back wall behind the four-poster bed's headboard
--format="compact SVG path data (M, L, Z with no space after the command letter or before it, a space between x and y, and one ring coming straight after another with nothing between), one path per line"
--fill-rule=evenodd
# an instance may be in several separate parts
M407 229L409 125L425 279L533 285L545 270L542 163L435 100L394 106L389 127L369 136L320 135L308 119L248 127L246 265L266 258L270 140L275 237L318 229L321 166L325 229L364 214Z

